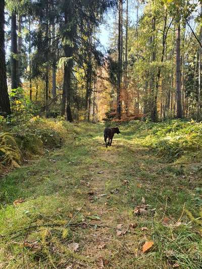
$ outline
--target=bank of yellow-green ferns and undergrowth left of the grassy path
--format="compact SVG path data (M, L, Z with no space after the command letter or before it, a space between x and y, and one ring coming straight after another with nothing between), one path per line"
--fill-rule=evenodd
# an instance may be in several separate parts
M32 117L18 124L5 121L0 132L2 169L18 168L27 159L42 155L45 150L61 147L73 139L69 124L60 119Z

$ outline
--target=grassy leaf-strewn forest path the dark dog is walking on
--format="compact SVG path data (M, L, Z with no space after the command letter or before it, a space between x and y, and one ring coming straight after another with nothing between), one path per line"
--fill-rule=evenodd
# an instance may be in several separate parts
M120 129L106 148L104 125L72 124L1 179L0 268L202 268L201 163L182 172Z

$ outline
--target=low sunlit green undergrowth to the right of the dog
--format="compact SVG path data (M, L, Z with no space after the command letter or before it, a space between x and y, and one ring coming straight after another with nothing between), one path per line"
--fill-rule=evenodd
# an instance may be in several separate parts
M127 130L135 131L135 142L155 150L170 161L188 153L195 158L202 149L202 123L182 120L157 124L131 122Z

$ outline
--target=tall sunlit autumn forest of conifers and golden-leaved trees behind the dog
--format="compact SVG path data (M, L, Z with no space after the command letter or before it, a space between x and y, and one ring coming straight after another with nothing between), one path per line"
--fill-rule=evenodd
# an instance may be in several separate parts
M2 116L7 81L13 114L201 120L200 1L8 0L1 13Z

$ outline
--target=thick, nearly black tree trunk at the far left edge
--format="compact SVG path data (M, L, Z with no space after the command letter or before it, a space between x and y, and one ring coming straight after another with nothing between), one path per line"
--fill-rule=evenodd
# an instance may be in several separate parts
M5 2L0 2L0 111L11 115L11 107L8 95L6 60L5 60L5 32L4 32L4 8Z

